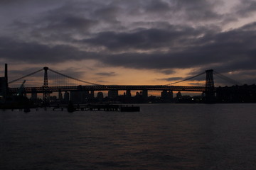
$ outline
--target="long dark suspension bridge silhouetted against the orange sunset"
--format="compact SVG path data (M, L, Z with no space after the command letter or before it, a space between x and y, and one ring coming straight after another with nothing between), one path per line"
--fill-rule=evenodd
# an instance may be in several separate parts
M24 79L28 79L28 77L32 77L34 74L37 74L38 72L44 72L43 77L43 84L42 86L30 86L30 87L24 87L23 84L25 82ZM54 77L53 81L57 81L57 84L49 84L48 80L48 72L51 72L53 74L58 75L58 78ZM206 85L205 86L174 86L174 84L181 83L183 81L188 81L191 79L194 79L196 77L199 77L203 74L206 74ZM213 71L213 69L206 70L206 72L202 72L200 74L197 74L196 76L190 77L188 79L183 79L181 81L176 81L171 84L166 85L142 85L142 86L134 86L134 85L102 85L102 84L95 84L89 81L84 81L81 79L77 79L74 77L70 77L68 75L62 74L60 72L57 72L53 69L50 69L48 67L43 67L43 69L39 69L36 72L32 72L30 74L27 74L23 77L20 77L18 79L14 79L12 81L9 81L7 86L9 84L14 84L16 81L23 81L23 84L20 87L8 87L9 94L18 94L19 91L21 91L23 94L43 94L43 103L47 104L49 103L49 96L53 92L62 92L62 91L126 91L126 94L131 96L131 91L142 91L142 94L144 97L148 97L148 91L197 91L197 92L203 92L206 94L206 101L210 102L213 100L215 96L216 88L214 86L214 79L213 74L217 75L218 77L225 79L226 81L229 81L233 84L238 84L237 81L230 79L228 77L225 77L224 75ZM65 81L60 81L59 77L63 77L66 79ZM6 79L8 77L6 76ZM87 84L87 85L68 85L66 82L68 80L77 81L80 84ZM117 92L118 93L118 92Z

